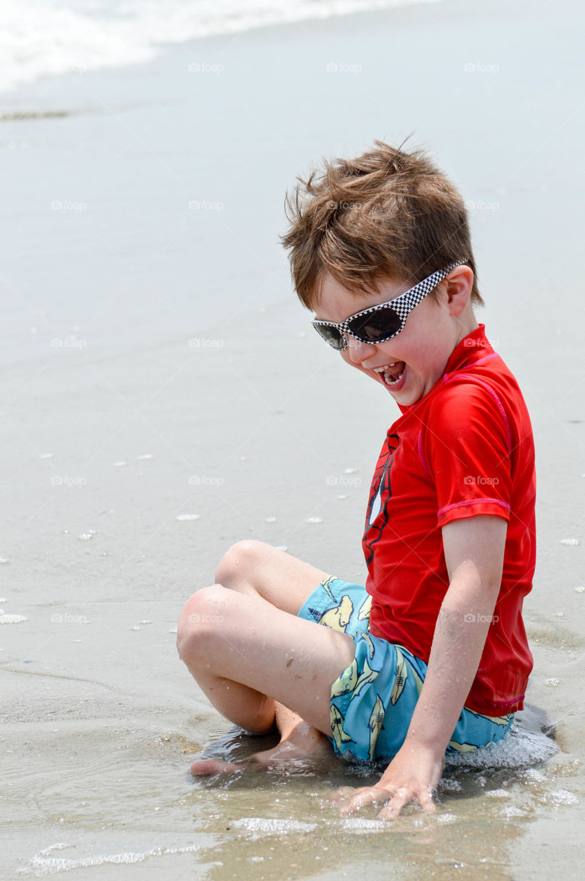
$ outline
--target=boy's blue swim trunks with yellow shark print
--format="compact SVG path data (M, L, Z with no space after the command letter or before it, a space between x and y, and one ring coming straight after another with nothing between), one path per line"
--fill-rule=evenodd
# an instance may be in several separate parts
M371 605L363 585L330 575L299 611L299 618L341 630L355 642L351 666L331 685L330 741L338 755L362 761L396 755L426 676L424 661L370 633ZM496 743L513 720L513 713L485 716L463 707L447 756Z

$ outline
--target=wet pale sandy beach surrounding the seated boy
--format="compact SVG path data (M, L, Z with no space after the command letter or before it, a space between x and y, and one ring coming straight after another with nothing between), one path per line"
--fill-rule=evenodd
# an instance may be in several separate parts
M569 2L396 5L0 93L0 877L581 877L583 26ZM335 760L194 781L201 751L258 744L175 633L244 538L366 576L398 410L322 344L278 236L311 163L407 137L467 201L478 320L532 419L536 709L508 766L448 769L433 817L383 824L339 817L364 772Z

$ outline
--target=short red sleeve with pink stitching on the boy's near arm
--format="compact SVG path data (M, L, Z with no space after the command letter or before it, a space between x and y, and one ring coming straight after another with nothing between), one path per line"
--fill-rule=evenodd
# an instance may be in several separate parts
M509 520L510 426L491 385L482 380L446 385L433 402L424 437L439 526L478 514Z

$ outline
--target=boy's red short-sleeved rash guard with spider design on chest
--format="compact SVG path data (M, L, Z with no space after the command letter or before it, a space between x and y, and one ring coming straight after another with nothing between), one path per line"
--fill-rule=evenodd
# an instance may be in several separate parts
M400 410L367 506L371 631L428 663L449 584L441 527L462 517L504 517L500 594L465 706L512 713L522 709L532 670L522 601L536 562L534 442L522 393L480 324L456 346L433 389Z

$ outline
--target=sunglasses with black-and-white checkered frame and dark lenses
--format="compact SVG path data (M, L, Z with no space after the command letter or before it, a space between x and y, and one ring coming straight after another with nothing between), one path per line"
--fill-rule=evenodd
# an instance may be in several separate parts
M433 272L433 275L423 278L418 282L418 285L411 287L410 291L401 293L394 300L381 303L379 306L372 306L362 312L356 312L355 315L350 315L339 324L322 322L318 319L311 323L325 342L337 349L337 352L346 348L346 334L348 333L359 339L361 343L385 343L386 340L396 337L396 334L404 329L404 324L412 309L418 306L421 300L424 300L426 294L433 291L451 270L454 270L456 266L461 266L462 263L467 263L467 259L451 263L445 270Z

